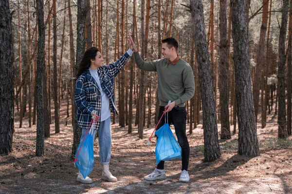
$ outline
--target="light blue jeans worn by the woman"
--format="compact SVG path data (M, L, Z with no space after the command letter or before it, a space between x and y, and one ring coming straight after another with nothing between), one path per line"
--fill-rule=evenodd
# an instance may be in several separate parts
M81 141L86 133L86 128L82 129ZM93 131L93 138L96 130ZM98 129L98 144L99 144L99 160L102 164L110 163L110 148L111 148L111 125L110 117L100 122Z

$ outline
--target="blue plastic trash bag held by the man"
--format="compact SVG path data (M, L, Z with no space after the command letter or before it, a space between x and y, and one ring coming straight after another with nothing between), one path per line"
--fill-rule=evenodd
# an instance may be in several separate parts
M169 125L165 123L160 129L155 131L158 136L155 148L156 163L169 161L175 158L182 158L182 148L176 141Z

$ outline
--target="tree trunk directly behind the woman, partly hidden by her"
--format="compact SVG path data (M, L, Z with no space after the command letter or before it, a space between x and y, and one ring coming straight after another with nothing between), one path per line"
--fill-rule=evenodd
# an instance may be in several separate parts
M77 42L76 42L76 65L74 66L74 76L78 65L82 59L82 56L85 51L85 20L86 20L86 9L84 0L77 0ZM74 85L75 85L74 81ZM73 93L75 94L76 88L74 87ZM73 95L72 95L73 96ZM76 115L76 107L74 109ZM73 146L72 146L72 157L75 156L76 150L78 148L82 130L77 124L76 118L73 119Z

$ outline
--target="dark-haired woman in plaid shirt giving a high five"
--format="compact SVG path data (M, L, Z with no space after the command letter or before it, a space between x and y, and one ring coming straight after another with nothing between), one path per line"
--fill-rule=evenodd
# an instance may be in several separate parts
M77 105L77 123L82 128L81 140L89 127L91 118L97 120L93 137L98 131L99 159L103 165L101 179L116 182L117 178L112 176L109 169L111 126L110 112L118 114L114 99L114 77L118 75L128 58L132 55L133 47L129 41L128 51L116 62L103 65L103 58L97 48L87 49L78 66L75 102ZM77 181L92 183L91 178L82 177L79 172Z

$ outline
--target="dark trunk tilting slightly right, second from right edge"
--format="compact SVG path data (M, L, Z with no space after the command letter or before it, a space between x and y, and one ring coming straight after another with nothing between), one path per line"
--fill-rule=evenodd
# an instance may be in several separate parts
M282 8L282 20L279 34L279 61L278 61L278 84L277 84L277 96L278 96L278 137L286 138L286 102L285 102L285 74L286 74L286 55L285 55L285 38L287 31L289 0L283 0Z

